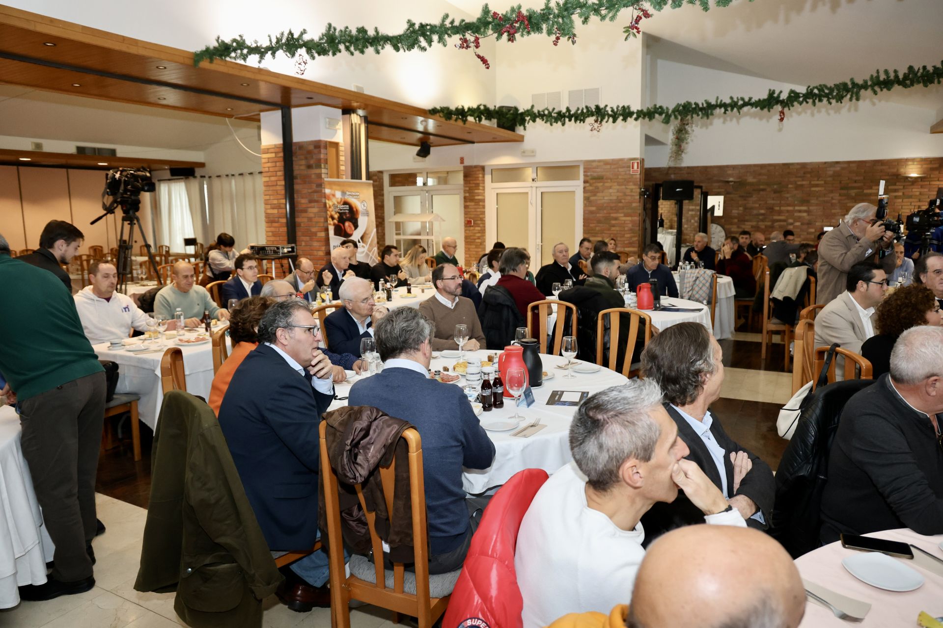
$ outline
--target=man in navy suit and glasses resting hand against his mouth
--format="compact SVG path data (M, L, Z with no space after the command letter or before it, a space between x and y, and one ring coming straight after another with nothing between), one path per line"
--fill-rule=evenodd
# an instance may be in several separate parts
M223 396L220 427L269 547L306 549L318 538L318 424L334 398L331 362L316 350L315 320L300 299L274 303L257 335ZM323 552L287 571L282 602L299 611L329 604Z

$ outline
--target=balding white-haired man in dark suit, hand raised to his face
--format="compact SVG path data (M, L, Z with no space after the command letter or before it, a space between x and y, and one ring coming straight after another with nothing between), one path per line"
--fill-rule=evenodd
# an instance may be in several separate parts
M327 347L360 355L360 339L373 337L373 324L387 314L387 308L373 302L372 282L359 277L340 284L340 300L344 306L324 318Z

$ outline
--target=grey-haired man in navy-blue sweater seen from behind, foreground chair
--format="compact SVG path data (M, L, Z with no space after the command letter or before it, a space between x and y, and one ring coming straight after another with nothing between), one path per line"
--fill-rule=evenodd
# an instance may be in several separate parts
M428 375L435 324L419 310L397 308L376 324L383 371L351 387L351 406L373 406L419 430L429 529L429 572L462 566L487 500L466 499L462 470L488 469L494 443L479 425L468 398L454 384Z

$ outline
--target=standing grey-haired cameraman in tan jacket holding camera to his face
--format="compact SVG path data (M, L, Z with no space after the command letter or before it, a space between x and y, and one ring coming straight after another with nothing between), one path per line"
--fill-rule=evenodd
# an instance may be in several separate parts
M858 262L885 250L885 257L877 260L886 274L894 271L897 259L891 243L894 233L885 232L884 225L875 222L878 208L869 202L859 202L838 226L825 233L819 242L819 285L816 302L825 304L845 291L845 277Z

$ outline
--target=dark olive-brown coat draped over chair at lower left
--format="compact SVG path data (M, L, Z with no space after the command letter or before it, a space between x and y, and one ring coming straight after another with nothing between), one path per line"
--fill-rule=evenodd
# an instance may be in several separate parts
M216 415L164 395L135 590L175 588L174 610L195 628L250 628L281 581Z

